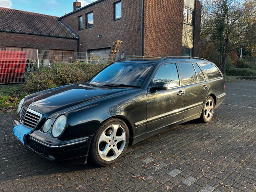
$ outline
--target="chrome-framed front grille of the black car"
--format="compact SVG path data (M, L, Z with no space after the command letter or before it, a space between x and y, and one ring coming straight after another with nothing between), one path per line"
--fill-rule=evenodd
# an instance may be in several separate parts
M28 128L36 128L42 114L23 106L20 111L20 122Z

